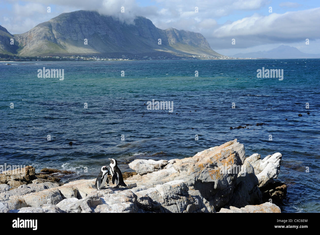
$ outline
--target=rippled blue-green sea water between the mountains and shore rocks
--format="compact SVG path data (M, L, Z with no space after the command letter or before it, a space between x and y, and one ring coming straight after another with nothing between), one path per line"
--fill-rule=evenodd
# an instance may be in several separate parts
M94 178L110 157L129 171L137 158L190 157L237 138L247 156L282 153L283 212L320 212L319 62L0 63L0 164L76 171L68 180ZM64 69L64 80L38 78L43 67ZM262 67L283 69L284 79L257 78ZM172 101L173 112L147 110L152 99Z

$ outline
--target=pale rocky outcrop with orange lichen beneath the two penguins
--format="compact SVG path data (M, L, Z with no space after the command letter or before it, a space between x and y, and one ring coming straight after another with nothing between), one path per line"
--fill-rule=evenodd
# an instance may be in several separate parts
M261 162L259 159L258 154L246 159L244 145L235 139L189 158L133 161L129 166L141 173L125 178L127 187L113 188L109 182L107 189L95 190L92 188L95 179L91 179L72 181L58 187L51 185L52 188L39 192L28 192L31 188L38 188L26 189L26 186L20 188L25 190L23 193L9 194L6 191L3 192L6 196L0 201L0 210L67 213L280 212L272 203L262 204L259 185L267 184L271 182L271 176L277 176L281 154L269 155ZM149 168L148 171L153 170L150 173L140 171ZM259 174L261 177L258 178Z

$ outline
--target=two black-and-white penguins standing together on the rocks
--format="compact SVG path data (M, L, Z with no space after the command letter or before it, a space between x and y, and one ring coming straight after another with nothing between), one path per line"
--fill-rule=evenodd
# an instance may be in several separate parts
M96 179L96 183L94 186L98 190L103 189L106 182L107 182L107 184L109 183L108 175L110 175L110 173L112 176L112 184L116 184L115 188L119 187L119 185L124 186L124 187L127 186L124 183L122 173L117 166L117 160L115 160L113 158L109 158L109 160L110 160L110 166L109 166L110 172L109 172L107 166L103 166L103 167L101 167L99 175Z

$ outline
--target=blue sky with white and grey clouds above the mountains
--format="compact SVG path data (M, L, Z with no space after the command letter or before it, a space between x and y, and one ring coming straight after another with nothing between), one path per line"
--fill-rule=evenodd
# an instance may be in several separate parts
M126 13L119 16L121 6ZM199 32L223 55L266 51L282 44L305 53L320 53L319 0L0 0L0 25L19 34L76 10L96 10L128 23L142 15L162 29ZM233 38L235 45L231 44Z

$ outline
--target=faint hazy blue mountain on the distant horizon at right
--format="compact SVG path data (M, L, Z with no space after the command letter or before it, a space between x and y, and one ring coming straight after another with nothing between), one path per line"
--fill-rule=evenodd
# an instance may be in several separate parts
M257 51L249 53L238 53L236 58L268 58L268 59L306 59L320 58L320 54L307 54L292 46L281 45L270 51Z

